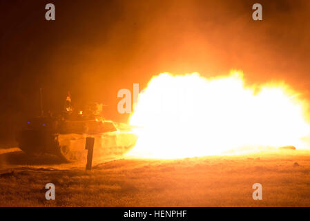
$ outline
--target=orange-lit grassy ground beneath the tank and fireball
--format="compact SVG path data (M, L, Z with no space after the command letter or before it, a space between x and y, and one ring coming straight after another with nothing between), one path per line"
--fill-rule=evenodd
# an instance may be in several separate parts
M27 160L17 148L0 160L0 206L310 206L310 151L95 161L87 172L85 162ZM45 198L49 182L56 200Z

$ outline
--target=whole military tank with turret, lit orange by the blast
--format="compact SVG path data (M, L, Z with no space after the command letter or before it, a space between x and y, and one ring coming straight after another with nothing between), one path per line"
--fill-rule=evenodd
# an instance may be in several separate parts
M96 108L75 111L69 94L62 113L42 113L25 122L17 134L19 148L28 155L48 153L71 162L86 157L86 137L95 137L94 157L123 155L135 145L136 135L99 112Z

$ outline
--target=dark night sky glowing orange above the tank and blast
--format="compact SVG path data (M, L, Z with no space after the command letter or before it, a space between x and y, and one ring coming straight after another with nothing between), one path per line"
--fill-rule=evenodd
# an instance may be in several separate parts
M45 20L54 3L56 21ZM253 21L261 3L263 20ZM72 100L107 104L153 75L244 71L249 84L283 80L308 98L310 1L0 0L1 127ZM1 130L3 131L3 130ZM3 133L1 133L3 135Z

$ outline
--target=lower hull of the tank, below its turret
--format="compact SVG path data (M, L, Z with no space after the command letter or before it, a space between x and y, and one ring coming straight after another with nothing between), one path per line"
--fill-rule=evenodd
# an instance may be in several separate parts
M19 133L19 148L29 155L48 153L67 161L86 158L86 137L94 137L94 157L123 155L135 146L137 136L128 131L113 131L96 134L54 134L48 131L25 130Z

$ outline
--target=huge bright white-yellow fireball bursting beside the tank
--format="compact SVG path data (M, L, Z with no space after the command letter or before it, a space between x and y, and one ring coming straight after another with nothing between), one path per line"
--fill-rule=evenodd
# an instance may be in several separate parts
M162 73L139 93L130 116L139 138L127 155L173 159L242 148L307 148L306 106L289 86L246 86L237 71L211 79Z

